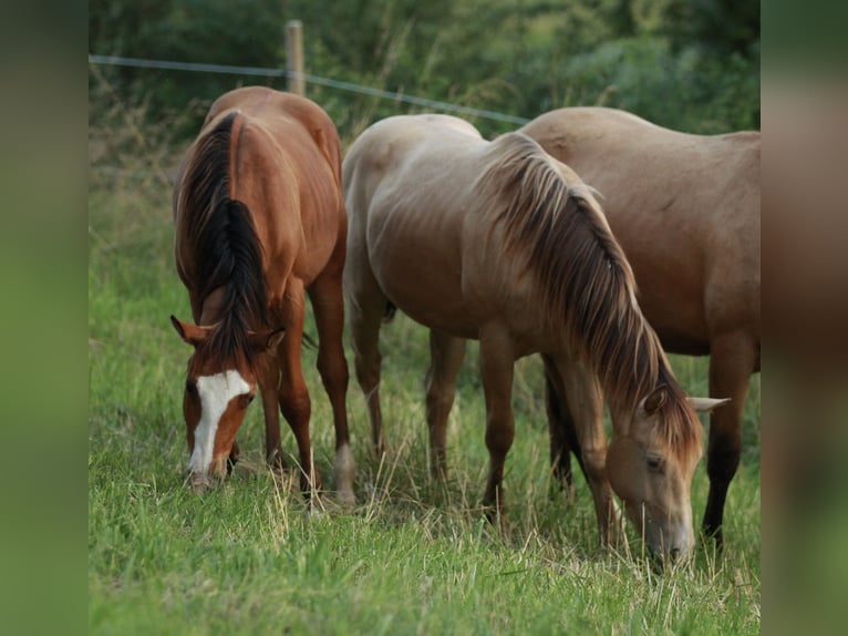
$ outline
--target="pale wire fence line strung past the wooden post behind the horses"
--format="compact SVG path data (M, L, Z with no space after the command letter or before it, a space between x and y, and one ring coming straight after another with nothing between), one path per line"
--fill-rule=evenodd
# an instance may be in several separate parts
M416 106L425 106L428 109L435 109L447 113L459 113L463 115L472 115L477 117L484 117L496 122L506 122L510 124L526 124L530 120L525 117L518 117L516 115L507 115L505 113L497 113L494 111L487 111L484 109L475 109L472 106L462 106L458 104L452 104L449 102L439 102L437 100L431 100L427 98L417 98L415 95L407 95L404 93L383 91L381 89L374 89L372 86L363 86L361 84L354 84L353 82L343 82L340 80L332 80L330 78L321 78L319 75L310 75L308 73L296 73L283 69L265 69L261 66L231 66L228 64L204 64L195 62L174 62L168 60L144 60L139 58L122 58L114 55L94 55L89 54L90 64L103 64L112 66L134 66L138 69L161 69L168 71L189 71L195 73L224 73L234 75L254 75L261 78L301 78L308 84L314 84L318 86L327 86L329 89L337 89L340 91L348 91L351 93L358 93L361 95L370 95L372 98L379 98L383 100L392 100L394 102L402 102L406 104L414 104Z

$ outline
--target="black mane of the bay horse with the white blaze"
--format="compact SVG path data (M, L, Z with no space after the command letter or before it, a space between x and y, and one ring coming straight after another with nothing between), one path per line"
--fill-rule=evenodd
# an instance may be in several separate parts
M220 320L206 347L221 360L251 360L248 329L267 325L262 246L247 205L230 198L230 147L238 116L234 112L213 122L195 142L178 202L178 240L194 255L194 263L183 264L192 288L201 301L225 289Z

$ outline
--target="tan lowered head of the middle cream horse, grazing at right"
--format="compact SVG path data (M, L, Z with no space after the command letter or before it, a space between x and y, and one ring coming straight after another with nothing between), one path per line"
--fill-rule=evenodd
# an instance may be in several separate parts
M662 561L686 555L695 543L690 493L702 454L696 411L711 411L728 401L681 398L661 384L640 400L629 425L610 443L610 485L648 550ZM685 437L682 430L697 433Z

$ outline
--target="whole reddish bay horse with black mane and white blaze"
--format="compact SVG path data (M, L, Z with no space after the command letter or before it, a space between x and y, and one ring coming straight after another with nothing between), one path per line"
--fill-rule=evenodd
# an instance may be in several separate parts
M236 432L257 387L267 459L283 468L279 408L297 439L301 488L320 488L301 368L304 293L316 314L318 369L335 424L335 480L353 502L341 290L347 217L335 127L314 103L265 88L219 98L174 189L176 265L196 325L183 399L197 490L238 459Z

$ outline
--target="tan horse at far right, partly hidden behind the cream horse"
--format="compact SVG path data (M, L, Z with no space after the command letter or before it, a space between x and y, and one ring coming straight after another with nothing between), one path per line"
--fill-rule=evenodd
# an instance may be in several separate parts
M623 111L560 109L521 129L603 196L633 267L639 305L668 351L710 355L710 494L703 520L722 543L740 463L742 411L759 371L759 133L700 136ZM568 474L570 400L550 391L551 459ZM571 438L571 442L569 442Z

